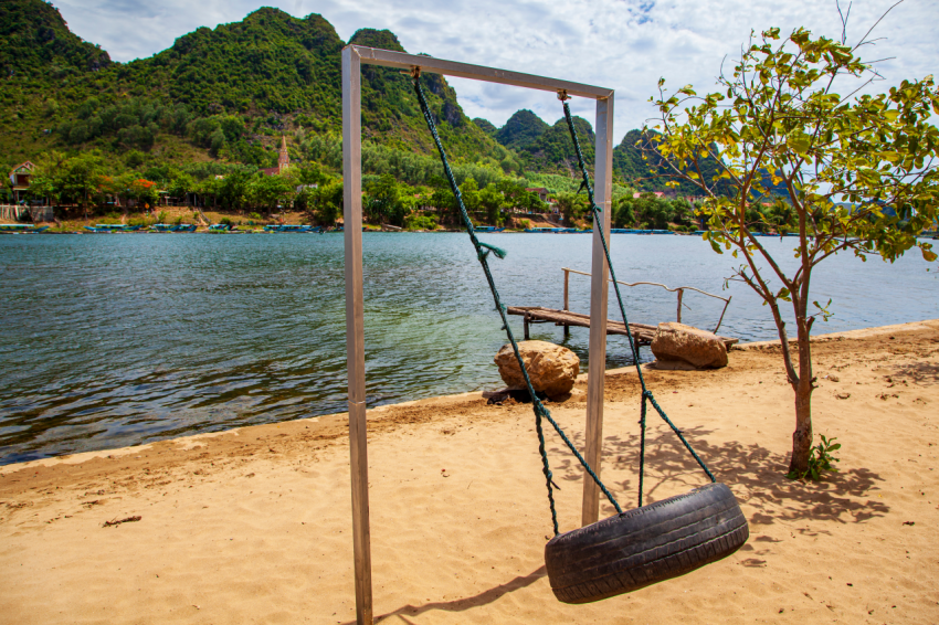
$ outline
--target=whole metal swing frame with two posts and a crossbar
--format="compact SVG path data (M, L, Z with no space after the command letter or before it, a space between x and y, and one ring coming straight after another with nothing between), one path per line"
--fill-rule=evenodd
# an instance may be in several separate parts
M520 74L482 65L468 65L361 45L342 49L342 173L346 264L346 351L349 373L349 452L352 487L352 543L355 551L356 621L372 625L371 538L369 530L368 441L366 420L365 298L362 288L362 64L443 74L488 83L514 85L597 100L595 200L602 209L603 229L610 231L613 170L613 89ZM593 229L590 286L590 364L587 386L584 457L600 475L603 438L603 383L606 363L606 305L609 267L599 229ZM583 480L581 523L597 522L600 490Z

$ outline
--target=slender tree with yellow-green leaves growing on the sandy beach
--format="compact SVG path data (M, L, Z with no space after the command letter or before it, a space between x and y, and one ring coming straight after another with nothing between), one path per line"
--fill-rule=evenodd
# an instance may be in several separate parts
M781 40L779 29L771 29L745 50L732 76L719 80L720 93L698 97L686 86L668 95L663 80L655 102L658 152L676 180L693 181L706 195L701 213L710 231L705 237L715 252L732 251L741 259L731 279L749 285L776 321L795 394L793 476L805 474L812 447L810 333L820 316L831 314L811 299L813 271L842 251L893 262L919 247L926 261L936 259L916 235L937 218L939 130L930 117L939 113L939 93L927 76L885 94L854 96L855 87L876 77L856 55L865 43L852 47L812 39L804 29ZM851 95L834 91L852 78L858 84L851 85ZM701 176L699 160L717 158L716 150L725 168ZM725 179L732 186L730 197L715 192ZM750 209L771 194L768 183L784 190L791 208L787 224L799 234L794 271L753 236ZM781 303L792 307L798 359Z

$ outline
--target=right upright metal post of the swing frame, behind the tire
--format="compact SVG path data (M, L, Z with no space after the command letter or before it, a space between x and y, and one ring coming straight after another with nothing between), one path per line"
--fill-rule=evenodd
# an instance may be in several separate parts
M597 205L602 209L603 232L610 245L610 198L613 192L613 95L597 100L597 160L593 166ZM600 476L603 447L603 378L606 374L606 298L609 295L606 257L600 230L593 225L593 257L590 271L590 364L587 379L587 444L584 458ZM600 489L583 473L581 522L597 522L600 516Z

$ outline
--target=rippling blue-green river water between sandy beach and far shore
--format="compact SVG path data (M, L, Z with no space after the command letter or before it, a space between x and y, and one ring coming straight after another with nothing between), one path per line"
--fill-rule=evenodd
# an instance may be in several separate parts
M560 308L561 267L590 271L585 234L481 239L508 252L492 265L509 306ZM793 263L792 239L763 241ZM366 233L363 248L369 405L500 386L505 335L466 235ZM748 287L722 290L736 259L699 237L616 234L612 254L622 280L732 295L721 335L776 338ZM813 294L835 316L815 332L939 316L929 267L825 261ZM571 309L589 312L589 284L571 276ZM0 464L345 411L344 294L341 234L0 236ZM675 319L675 294L624 295L631 321ZM707 329L722 307L685 304ZM531 338L563 341L552 325ZM573 328L565 343L582 370L587 342ZM608 351L608 367L631 361L624 338Z

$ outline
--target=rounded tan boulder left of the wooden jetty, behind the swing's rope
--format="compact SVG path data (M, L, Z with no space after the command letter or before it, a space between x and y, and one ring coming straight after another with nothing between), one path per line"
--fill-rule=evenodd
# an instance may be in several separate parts
M577 374L580 372L580 359L566 347L546 341L521 341L518 343L521 360L528 370L528 378L536 391L549 398L570 393ZM525 389L525 378L511 345L503 346L496 353L499 375L511 389Z

